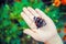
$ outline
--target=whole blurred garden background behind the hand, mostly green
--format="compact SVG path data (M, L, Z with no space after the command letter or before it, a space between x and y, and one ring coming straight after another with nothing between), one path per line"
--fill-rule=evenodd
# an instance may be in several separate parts
M42 44L31 36L23 34L28 29L21 18L23 7L38 8L55 23L57 32L65 42L66 37L66 6L53 6L54 0L1 0L0 1L0 43L1 44Z

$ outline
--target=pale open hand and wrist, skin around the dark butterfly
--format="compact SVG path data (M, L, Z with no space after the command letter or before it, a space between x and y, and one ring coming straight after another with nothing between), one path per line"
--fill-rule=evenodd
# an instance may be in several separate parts
M57 34L54 22L40 9L34 10L31 7L23 8L21 16L30 26L30 29L24 30L23 33L31 35L34 40L44 42L45 44L63 44L61 37ZM34 16L44 19L46 25L37 29L33 19Z

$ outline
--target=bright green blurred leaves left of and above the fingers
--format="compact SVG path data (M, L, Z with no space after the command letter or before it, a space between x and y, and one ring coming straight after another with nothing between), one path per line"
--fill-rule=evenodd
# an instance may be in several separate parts
M23 35L23 30L29 29L26 22L21 18L21 12L24 7L38 8L45 12L46 7L41 0L21 0L15 1L13 6L3 6L0 8L0 38L8 44L21 44L20 36ZM51 10L46 13L56 24L57 28L63 26L59 21L59 9L53 6L48 7ZM19 36L20 35L20 36ZM30 36L28 36L30 37Z

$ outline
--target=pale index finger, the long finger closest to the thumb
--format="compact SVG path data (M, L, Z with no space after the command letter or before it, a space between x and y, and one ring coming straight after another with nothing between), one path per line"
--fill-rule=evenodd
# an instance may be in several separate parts
M24 13L21 13L21 16L24 19L24 21L26 22L26 24L33 30L36 29L36 25L34 24L34 22L31 21L31 19Z

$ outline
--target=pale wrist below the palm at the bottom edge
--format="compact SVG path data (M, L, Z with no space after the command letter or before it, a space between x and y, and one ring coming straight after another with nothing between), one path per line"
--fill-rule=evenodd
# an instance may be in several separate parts
M63 44L63 41L61 40L59 35L56 34L52 38L50 38L46 44Z

